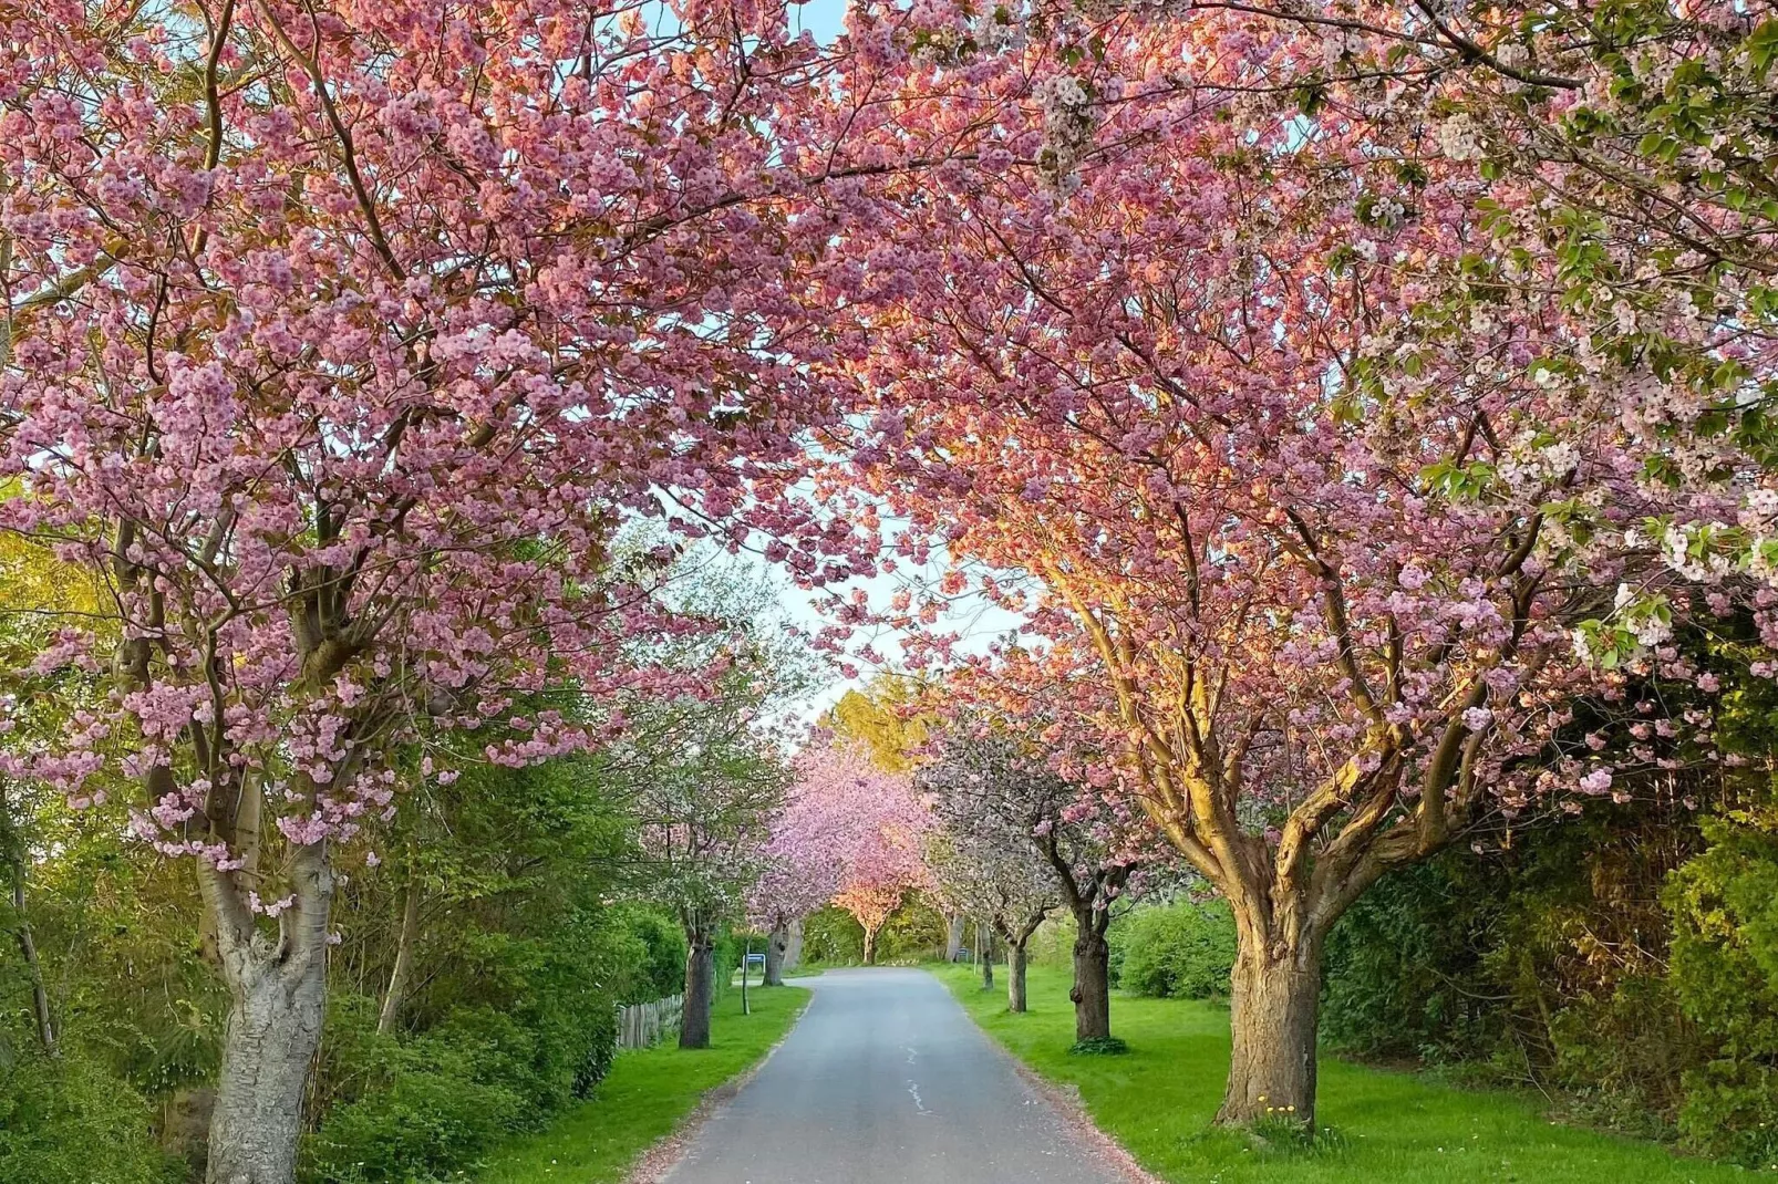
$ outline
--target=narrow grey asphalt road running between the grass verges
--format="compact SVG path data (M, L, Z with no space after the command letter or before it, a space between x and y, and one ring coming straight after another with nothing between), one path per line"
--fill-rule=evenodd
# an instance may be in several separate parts
M1127 1184L921 971L829 971L663 1184Z

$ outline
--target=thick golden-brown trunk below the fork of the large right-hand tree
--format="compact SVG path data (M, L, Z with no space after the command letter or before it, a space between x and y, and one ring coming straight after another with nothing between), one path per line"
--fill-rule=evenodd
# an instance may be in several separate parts
M1282 958L1243 948L1229 999L1234 1052L1229 1092L1216 1122L1252 1125L1262 1118L1316 1120L1316 1024L1321 1006L1321 951L1309 942Z

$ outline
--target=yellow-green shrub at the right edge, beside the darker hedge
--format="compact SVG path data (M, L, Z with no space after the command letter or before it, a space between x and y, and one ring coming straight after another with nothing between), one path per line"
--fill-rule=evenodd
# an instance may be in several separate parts
M1709 848L1668 880L1670 983L1710 1045L1678 1127L1710 1156L1778 1163L1778 816L1703 823Z

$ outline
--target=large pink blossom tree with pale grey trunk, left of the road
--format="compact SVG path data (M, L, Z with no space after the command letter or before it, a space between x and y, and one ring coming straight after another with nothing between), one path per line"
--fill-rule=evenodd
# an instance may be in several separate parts
M770 315L846 217L809 190L882 165L773 2L50 0L0 37L0 530L121 635L57 622L39 665L114 692L5 773L133 782L194 862L233 994L208 1177L288 1184L395 745L537 761L679 693L624 645L685 628L629 517L832 567L781 496L823 412ZM562 681L585 718L514 708Z

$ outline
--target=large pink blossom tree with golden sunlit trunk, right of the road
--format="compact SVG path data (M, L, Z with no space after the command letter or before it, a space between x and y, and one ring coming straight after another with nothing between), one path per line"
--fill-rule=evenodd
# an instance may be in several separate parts
M884 183L811 279L845 292L832 370L864 400L834 505L877 501L898 562L948 569L878 619L980 594L1028 620L1028 660L1097 725L1086 784L1127 788L1234 910L1221 1120L1312 1122L1344 908L1483 811L1609 793L1550 745L1593 681L1570 629L1629 574L1595 523L1657 503L1622 425L1538 379L1556 309L1374 350L1422 274L1486 242L1467 165L1175 85L1181 60L1273 82L1236 34L1209 55L1125 20L1092 52L990 55L923 14L909 123L939 117L921 96L971 107L962 87L1001 148ZM944 658L928 642L912 660Z

